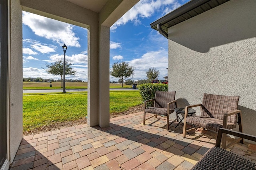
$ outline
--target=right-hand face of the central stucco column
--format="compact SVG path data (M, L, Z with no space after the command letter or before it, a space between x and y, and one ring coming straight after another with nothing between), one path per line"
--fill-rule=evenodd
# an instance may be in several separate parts
M99 126L109 126L109 42L110 29L99 28Z

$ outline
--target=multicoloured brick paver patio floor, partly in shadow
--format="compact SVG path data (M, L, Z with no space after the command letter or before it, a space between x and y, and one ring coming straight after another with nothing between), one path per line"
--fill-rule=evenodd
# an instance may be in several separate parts
M189 170L212 148L216 133L182 137L182 125L167 131L166 119L143 113L110 119L110 127L87 124L24 136L10 170ZM232 140L228 138L228 140ZM232 152L256 162L255 144L235 144Z

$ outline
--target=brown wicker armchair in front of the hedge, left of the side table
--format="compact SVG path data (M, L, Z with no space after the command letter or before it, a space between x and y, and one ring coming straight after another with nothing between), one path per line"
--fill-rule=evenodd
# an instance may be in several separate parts
M147 108L147 103L150 101L154 101L154 107ZM143 125L145 125L146 120L151 118L146 119L146 113L152 113L156 118L157 115L164 115L167 117L166 130L169 130L169 115L174 112L175 103L175 91L156 91L154 99L144 102Z

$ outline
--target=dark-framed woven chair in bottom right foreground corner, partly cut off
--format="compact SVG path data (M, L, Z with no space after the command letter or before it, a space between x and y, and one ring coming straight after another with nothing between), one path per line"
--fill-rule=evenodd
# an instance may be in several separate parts
M222 134L231 134L256 142L256 136L220 128L216 144L195 164L192 170L256 170L256 164L233 152L220 148Z

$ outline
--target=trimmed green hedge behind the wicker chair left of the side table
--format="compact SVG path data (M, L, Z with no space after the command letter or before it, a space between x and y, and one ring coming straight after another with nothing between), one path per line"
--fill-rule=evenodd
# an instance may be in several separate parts
M167 84L146 83L138 86L142 101L155 98L156 91L168 91ZM153 102L151 103L153 106Z

